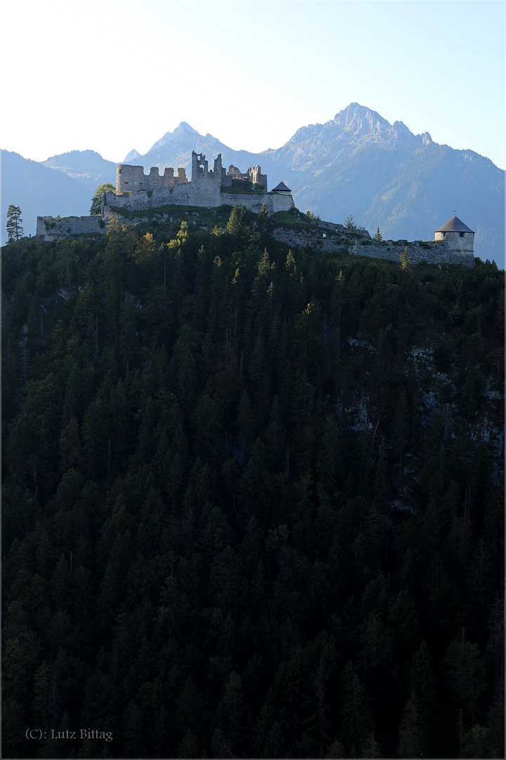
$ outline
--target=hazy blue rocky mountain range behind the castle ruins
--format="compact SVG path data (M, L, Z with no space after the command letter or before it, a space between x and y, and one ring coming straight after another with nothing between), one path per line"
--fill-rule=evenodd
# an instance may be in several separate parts
M221 153L224 166L241 171L259 164L270 187L282 180L291 188L300 211L338 223L352 214L372 234L379 227L383 239L432 239L457 213L476 233L475 255L504 268L504 171L473 150L435 143L428 132L413 135L403 122L390 124L358 103L262 153L232 150L181 122L146 154L131 150L123 163L184 166L189 175L192 150L209 161ZM33 234L37 215L87 214L97 185L115 184L115 169L93 150L42 163L2 150L2 218L8 204L19 205L25 232Z

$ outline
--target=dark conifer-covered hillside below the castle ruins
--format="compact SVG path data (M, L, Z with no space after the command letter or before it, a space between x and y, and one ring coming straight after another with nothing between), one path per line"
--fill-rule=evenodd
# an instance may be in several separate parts
M2 249L2 756L504 757L504 272L170 213Z

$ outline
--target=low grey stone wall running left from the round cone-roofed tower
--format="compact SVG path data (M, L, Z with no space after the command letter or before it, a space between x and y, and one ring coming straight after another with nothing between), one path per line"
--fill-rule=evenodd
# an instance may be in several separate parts
M364 245L355 242L351 252L356 256L382 258L385 261L399 261L401 254L406 251L412 264L426 261L427 264L464 264L474 266L473 252L456 252L451 250L445 240L428 240L426 242L399 242L384 240L380 243L371 242Z

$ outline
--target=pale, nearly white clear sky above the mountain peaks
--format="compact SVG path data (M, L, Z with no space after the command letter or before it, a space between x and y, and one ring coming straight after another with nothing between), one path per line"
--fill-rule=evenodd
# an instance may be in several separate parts
M0 147L119 162L182 121L281 147L349 103L506 167L504 2L2 4Z

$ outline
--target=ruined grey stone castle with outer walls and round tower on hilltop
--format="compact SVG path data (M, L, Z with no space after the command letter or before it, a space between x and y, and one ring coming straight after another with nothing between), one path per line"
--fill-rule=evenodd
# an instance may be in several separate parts
M152 166L145 174L143 166L118 164L115 192L105 192L102 198L102 213L88 217L37 217L36 239L39 242L55 240L70 235L103 234L106 221L112 216L121 216L121 211L156 209L165 205L202 208L234 206L243 204L258 214L266 207L269 215L278 211L291 211L294 199L291 190L280 182L268 191L266 174L260 166L253 166L241 173L237 166L222 166L222 155L215 158L212 169L205 154L195 150L191 156L191 179L188 180L184 167L178 168L177 175L172 167L166 167L161 175L157 166ZM288 245L306 248L317 245L324 252L341 252L347 245L354 255L380 258L385 261L399 261L404 251L414 263L427 261L432 264L452 263L473 266L474 233L455 215L445 225L435 231L435 239L426 242L382 241L375 242L366 230L350 232L341 224L317 223L318 233L294 232L279 228L273 236Z

